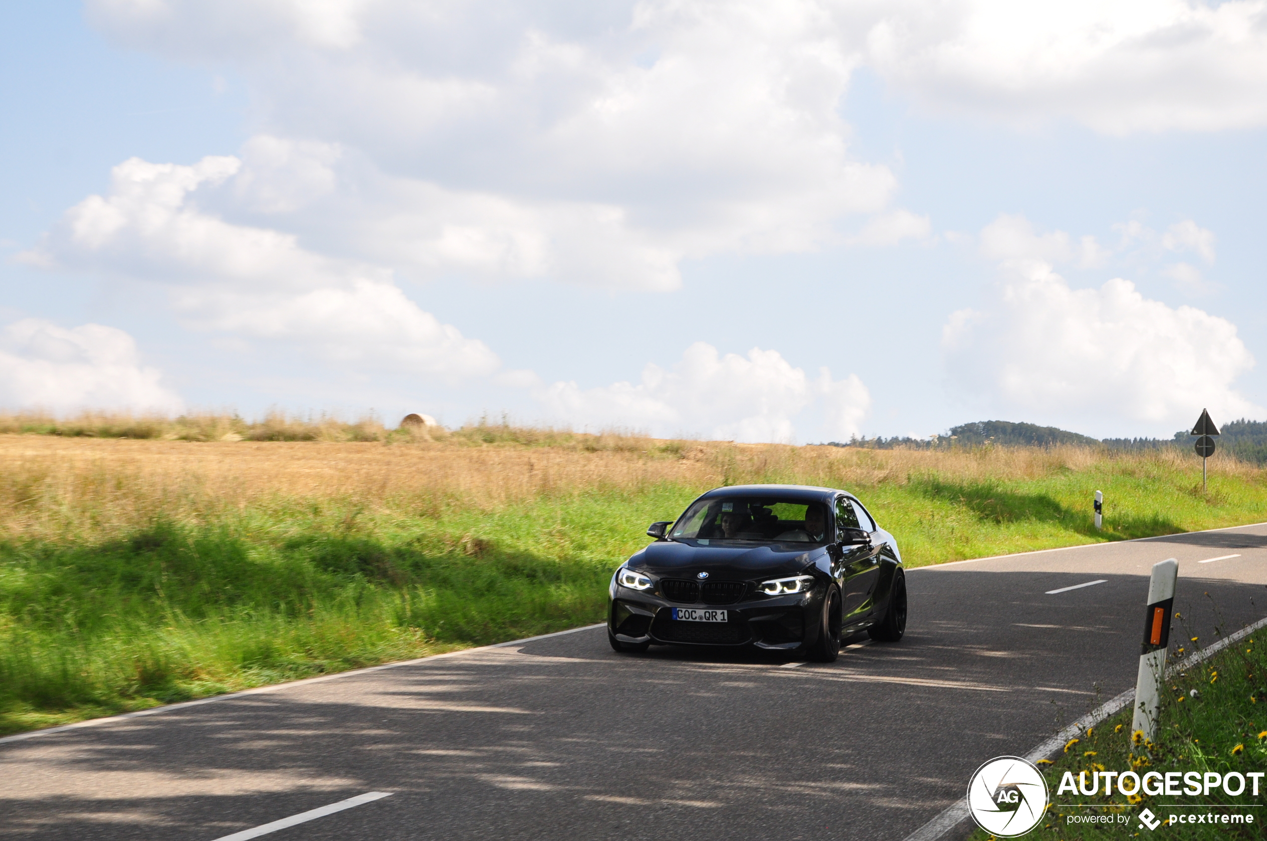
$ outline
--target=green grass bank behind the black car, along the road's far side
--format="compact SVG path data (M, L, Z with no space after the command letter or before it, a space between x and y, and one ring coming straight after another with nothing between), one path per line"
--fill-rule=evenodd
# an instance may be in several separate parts
M898 470L901 453L827 450L772 448L759 464L718 451L720 481L595 480L493 510L451 493L375 504L279 495L196 517L160 510L106 537L70 526L11 537L0 542L0 732L599 622L608 578L646 543L646 524L723 481L849 488L911 566L1267 521L1262 472L1213 476L1201 494L1195 458L1101 455L983 479L990 453ZM974 472L962 466L972 458ZM1096 489L1104 532L1092 527ZM28 495L14 494L18 512Z

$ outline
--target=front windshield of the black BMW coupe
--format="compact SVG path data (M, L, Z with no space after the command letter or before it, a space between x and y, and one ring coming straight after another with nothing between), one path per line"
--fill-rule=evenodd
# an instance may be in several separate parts
M760 496L701 499L674 523L670 537L712 541L821 543L827 526L822 503Z

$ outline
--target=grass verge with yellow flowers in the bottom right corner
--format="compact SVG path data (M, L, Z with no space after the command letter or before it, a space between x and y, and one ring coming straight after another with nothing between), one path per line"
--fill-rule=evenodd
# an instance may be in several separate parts
M1191 646L1191 643L1185 643ZM1172 665L1182 667L1182 656L1172 659ZM1126 708L1101 724L1083 731L1077 741L1071 741L1064 752L1045 766L1052 806L1047 819L1035 827L1028 838L1053 841L1120 841L1124 837L1152 835L1138 830L1136 816L1149 808L1159 819L1171 814L1237 813L1253 814L1253 825L1186 825L1158 827L1168 838L1262 838L1267 836L1267 809L1247 808L1261 806L1267 797L1267 779L1262 779L1259 797L1252 797L1252 783L1239 797L1226 795L1215 788L1209 795L1149 795L1128 798L1112 790L1104 795L1059 794L1066 773L1074 779L1082 773L1134 770L1143 776L1148 771L1168 771L1204 775L1230 771L1267 771L1267 629L1259 629L1239 645L1229 646L1210 660L1194 664L1188 670L1172 674L1168 692L1162 698L1159 727L1156 743L1131 746L1130 723L1133 709ZM1195 695L1192 693L1196 693ZM1091 788L1091 778L1087 788ZM1181 778L1182 779L1182 778ZM1129 788L1130 785L1128 785ZM1181 783L1182 788L1182 783ZM1078 808L1069 808L1076 804ZM1169 808L1175 804L1205 807L1201 809ZM1069 823L1074 814L1126 814L1128 822L1114 825ZM992 838L978 830L972 841Z

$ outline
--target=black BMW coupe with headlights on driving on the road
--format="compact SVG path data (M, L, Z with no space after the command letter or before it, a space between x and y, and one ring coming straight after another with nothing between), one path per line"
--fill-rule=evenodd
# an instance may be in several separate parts
M650 645L755 646L830 662L859 631L906 631L893 536L851 494L801 485L718 488L612 576L607 637Z

